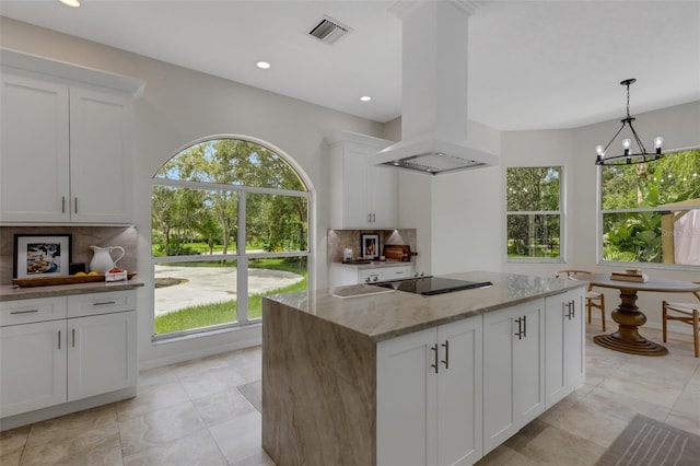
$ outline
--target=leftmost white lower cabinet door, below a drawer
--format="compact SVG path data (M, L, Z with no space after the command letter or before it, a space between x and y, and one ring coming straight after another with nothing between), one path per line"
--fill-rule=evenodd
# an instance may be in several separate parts
M0 417L66 403L66 319L0 328Z

